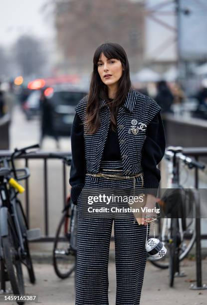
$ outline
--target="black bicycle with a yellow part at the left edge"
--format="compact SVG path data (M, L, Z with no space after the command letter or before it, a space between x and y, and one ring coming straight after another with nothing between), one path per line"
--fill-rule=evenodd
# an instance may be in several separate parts
M39 145L15 149L10 157L0 159L0 164L3 164L3 167L0 167L1 288L5 291L5 281L9 279L14 295L24 294L21 263L27 268L30 282L35 283L28 240L40 237L39 229L28 229L21 202L17 198L18 193L24 192L24 188L17 181L27 179L30 175L29 169L27 167L16 169L14 159L35 148L39 148ZM20 172L24 174L19 175ZM17 304L24 304L24 302L17 302Z

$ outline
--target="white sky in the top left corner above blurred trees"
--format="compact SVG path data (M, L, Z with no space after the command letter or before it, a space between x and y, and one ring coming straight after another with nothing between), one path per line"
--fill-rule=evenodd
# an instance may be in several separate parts
M0 46L9 46L21 34L40 38L54 35L52 16L42 11L48 0L0 0Z

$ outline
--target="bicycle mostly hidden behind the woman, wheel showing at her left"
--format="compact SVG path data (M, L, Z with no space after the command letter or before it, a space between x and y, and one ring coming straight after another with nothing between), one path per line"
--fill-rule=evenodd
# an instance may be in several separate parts
M68 166L71 164L71 157L64 157L54 153L50 155L62 159ZM62 213L55 234L52 252L53 266L56 275L60 279L66 279L74 272L76 283L77 206L72 203L70 195L66 198L66 205Z

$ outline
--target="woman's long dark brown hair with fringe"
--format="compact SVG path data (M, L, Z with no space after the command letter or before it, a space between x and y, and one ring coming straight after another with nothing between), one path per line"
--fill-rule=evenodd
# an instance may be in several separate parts
M98 73L98 61L100 59L101 53L103 53L107 59L114 58L120 60L124 69L122 76L118 81L118 90L113 101L110 101L108 98L108 87L102 82ZM123 47L118 43L112 42L101 44L96 49L93 56L93 72L91 75L90 89L88 93L88 104L86 107L85 132L87 134L94 134L100 127L100 98L107 101L111 111L112 130L116 130L118 108L124 103L130 87L131 80L129 74L129 62Z

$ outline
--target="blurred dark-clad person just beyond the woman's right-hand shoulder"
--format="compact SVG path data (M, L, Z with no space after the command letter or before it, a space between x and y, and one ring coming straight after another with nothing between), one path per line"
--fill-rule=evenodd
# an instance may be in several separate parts
M173 113L171 106L174 101L174 96L165 80L161 80L157 83L157 95L155 100L162 108L161 113Z

